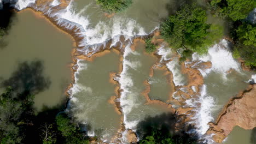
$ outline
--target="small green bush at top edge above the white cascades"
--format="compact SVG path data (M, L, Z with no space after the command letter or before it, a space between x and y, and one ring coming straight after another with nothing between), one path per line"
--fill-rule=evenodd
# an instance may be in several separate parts
M96 3L107 13L119 13L130 7L132 0L96 0Z

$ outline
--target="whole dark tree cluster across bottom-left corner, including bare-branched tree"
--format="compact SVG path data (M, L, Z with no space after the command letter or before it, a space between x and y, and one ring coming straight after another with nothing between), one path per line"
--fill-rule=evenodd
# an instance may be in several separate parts
M0 95L0 143L89 143L88 137L64 112L35 115L33 95L11 87Z

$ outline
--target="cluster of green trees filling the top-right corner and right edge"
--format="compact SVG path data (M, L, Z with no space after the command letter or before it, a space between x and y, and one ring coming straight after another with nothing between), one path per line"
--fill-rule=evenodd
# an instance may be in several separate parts
M256 27L246 20L249 12L256 7L256 1L212 0L208 5L214 16L227 17L232 21L230 36L234 42L234 57L241 57L251 68L256 67Z

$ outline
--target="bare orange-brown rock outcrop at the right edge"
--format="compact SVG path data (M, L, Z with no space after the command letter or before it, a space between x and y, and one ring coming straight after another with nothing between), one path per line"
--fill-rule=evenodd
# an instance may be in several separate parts
M220 113L216 124L209 123L207 134L214 134L213 140L221 143L235 126L243 129L256 127L256 85L230 99Z

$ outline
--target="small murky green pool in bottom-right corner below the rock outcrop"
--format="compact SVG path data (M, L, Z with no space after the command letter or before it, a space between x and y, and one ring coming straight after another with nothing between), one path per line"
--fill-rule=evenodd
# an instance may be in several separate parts
M229 134L228 139L223 144L255 144L256 133L254 130L245 130L240 127L235 127Z

